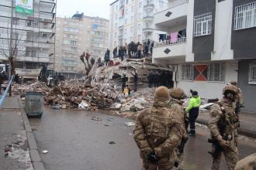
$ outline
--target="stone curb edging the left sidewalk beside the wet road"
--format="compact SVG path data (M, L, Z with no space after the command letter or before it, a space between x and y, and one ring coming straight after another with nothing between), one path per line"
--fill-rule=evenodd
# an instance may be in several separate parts
M26 136L29 142L29 154L30 154L31 162L33 164L33 168L34 170L45 170L45 168L43 167L43 162L40 158L40 153L36 145L36 139L31 129L29 119L26 116L26 112L24 108L22 108L22 101L20 98L19 98L19 107L22 113L22 119L24 122L25 130L26 130Z

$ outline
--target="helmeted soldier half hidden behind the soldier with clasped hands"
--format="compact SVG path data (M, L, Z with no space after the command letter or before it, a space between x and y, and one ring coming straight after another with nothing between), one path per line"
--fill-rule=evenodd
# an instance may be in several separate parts
M189 125L189 117L187 116L185 110L182 108L183 101L185 98L185 93L181 88L171 89L171 100L169 102L169 107L171 110L175 110L175 112L179 113L180 119L182 121L183 127L183 136L182 143L176 148L177 156L178 156L178 170L185 169L185 155L184 155L184 146L186 141L188 141L188 135L186 131L186 125Z

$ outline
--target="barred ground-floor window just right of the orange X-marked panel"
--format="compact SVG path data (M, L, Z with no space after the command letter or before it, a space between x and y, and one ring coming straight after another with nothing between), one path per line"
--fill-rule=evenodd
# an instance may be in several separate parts
M225 63L209 63L208 80L209 81L225 81Z

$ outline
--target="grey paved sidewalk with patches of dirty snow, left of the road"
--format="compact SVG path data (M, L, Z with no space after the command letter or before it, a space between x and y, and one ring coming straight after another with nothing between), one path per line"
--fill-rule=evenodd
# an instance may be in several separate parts
M0 169L44 170L19 97L6 97L0 108Z

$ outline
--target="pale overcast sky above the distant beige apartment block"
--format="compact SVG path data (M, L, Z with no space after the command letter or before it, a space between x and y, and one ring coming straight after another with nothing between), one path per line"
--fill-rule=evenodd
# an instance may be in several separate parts
M57 16L71 17L75 12L109 19L109 4L114 0L57 0Z

